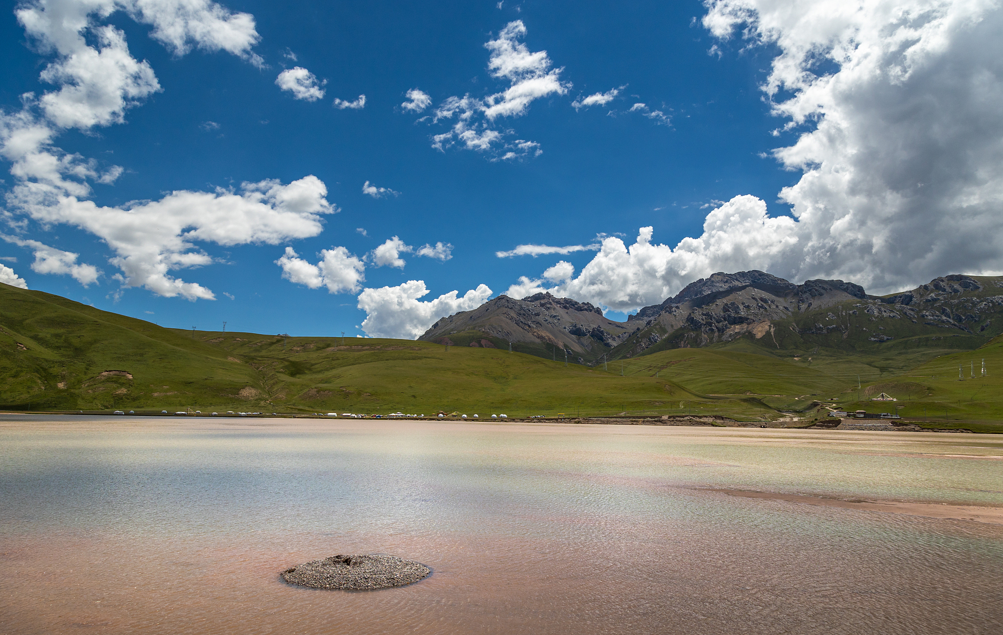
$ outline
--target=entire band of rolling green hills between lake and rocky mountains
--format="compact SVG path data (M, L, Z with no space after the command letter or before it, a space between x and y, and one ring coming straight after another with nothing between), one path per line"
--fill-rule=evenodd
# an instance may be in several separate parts
M497 348L446 347L193 333L0 285L0 409L720 414L772 420L824 416L820 404L870 411L898 405L903 415L940 427L1003 431L993 423L1003 420L1000 337L962 351L946 337L860 351L798 337L774 342L749 333L703 348L652 347L608 364L566 365L563 359L510 352L500 341ZM981 376L982 358L987 377ZM963 381L959 363L966 364ZM975 378L969 376L972 363ZM900 400L869 400L883 391Z

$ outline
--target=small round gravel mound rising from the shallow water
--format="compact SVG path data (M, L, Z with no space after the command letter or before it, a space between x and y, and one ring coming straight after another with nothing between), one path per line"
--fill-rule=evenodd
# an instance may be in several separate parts
M282 572L286 582L314 589L368 591L400 587L432 572L421 563L394 556L332 556Z

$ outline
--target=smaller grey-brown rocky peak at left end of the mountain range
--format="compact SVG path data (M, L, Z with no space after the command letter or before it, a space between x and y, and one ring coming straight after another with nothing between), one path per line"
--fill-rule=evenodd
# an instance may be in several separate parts
M445 343L450 335L472 331L508 342L558 347L591 360L624 341L628 328L588 302L538 293L522 300L498 296L472 311L440 319L418 339Z

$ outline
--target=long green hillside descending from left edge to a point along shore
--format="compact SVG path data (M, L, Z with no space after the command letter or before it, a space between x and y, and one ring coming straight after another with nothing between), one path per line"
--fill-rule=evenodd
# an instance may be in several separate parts
M3 409L526 415L724 408L672 380L508 349L193 333L6 285L0 307ZM744 402L728 412L771 415L767 406Z

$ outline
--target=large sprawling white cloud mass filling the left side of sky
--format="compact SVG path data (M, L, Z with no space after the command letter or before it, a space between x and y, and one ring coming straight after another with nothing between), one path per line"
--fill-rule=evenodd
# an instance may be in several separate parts
M222 50L263 65L251 50L260 39L254 17L215 2L20 3L15 10L18 21L37 49L51 57L39 78L55 88L40 96L23 95L20 111L0 111L0 155L11 164L14 177L14 186L6 194L8 210L43 227L62 223L95 234L115 253L110 262L122 271L115 277L127 286L145 286L165 296L212 298L208 289L166 275L173 269L212 261L205 253L193 251L192 241L236 245L312 236L321 229L317 215L335 210L323 200L326 189L314 177L289 186L246 184L242 195L179 191L128 210L82 200L91 193L89 182L110 185L123 170L102 168L94 160L65 152L53 139L66 128L89 133L96 126L121 123L127 109L160 90L149 64L129 53L124 33L101 24L119 10L150 25L150 37L176 55L194 48ZM218 125L206 122L204 127ZM72 275L83 284L93 282L99 273L91 265L77 263L77 255L71 252L37 241L25 241L24 246L35 250L35 271Z

